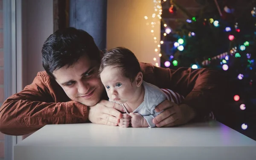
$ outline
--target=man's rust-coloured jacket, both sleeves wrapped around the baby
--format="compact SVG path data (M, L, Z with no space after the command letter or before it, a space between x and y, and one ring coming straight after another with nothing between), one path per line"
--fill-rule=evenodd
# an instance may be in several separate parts
M185 97L183 103L193 107L199 116L208 115L221 98L218 72L209 69L181 67L170 70L140 63L145 81L168 88ZM45 71L32 84L10 96L0 108L0 132L25 135L46 124L73 124L88 121L87 106L71 101L57 82Z

